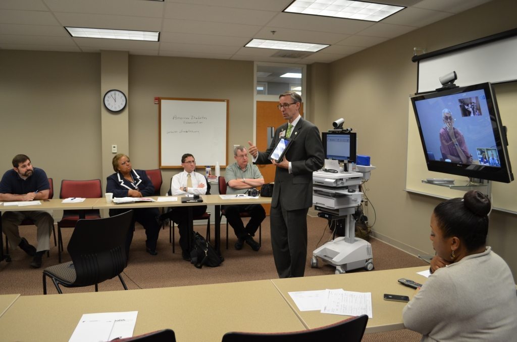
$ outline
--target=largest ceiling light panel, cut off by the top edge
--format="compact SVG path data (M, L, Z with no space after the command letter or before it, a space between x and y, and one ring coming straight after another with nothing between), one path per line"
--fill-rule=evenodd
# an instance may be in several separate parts
M402 6L349 0L296 0L284 12L345 19L381 21L404 9Z

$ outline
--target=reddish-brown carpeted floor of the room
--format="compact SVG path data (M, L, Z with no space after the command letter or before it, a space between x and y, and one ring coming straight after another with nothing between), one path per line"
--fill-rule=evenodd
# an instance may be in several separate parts
M328 229L327 221L320 217L308 216L308 256L306 276L333 274L334 268L328 265L321 265L319 268L310 267L310 257L312 251L331 238L331 231ZM204 226L194 226L194 229L205 235ZM212 226L212 236L214 235ZM22 226L21 236L27 238L29 243L35 243L36 229L34 226ZM241 251L236 251L233 244L236 241L233 229L230 227L230 246L225 250L225 226L221 226L222 252L225 261L220 267L196 269L189 262L181 259L180 248L178 245L178 234L176 234L176 253L172 253L169 243L169 227L160 232L158 241L158 255L151 256L145 252L145 232L142 227L136 227L129 263L123 277L129 289L138 288L158 288L171 286L186 286L200 284L229 283L239 281L252 281L258 279L277 278L275 264L271 251L269 235L269 217L262 223L262 247L258 252L254 252L245 244ZM72 229L63 229L63 239L65 245L72 233ZM256 234L258 241L258 231ZM375 270L386 270L403 267L425 266L425 262L419 258L398 250L384 242L376 239L370 240L373 251L373 263ZM43 268L58 263L57 247L53 246L51 237L50 257L43 257ZM9 250L12 258L11 262L0 262L0 294L21 293L22 296L42 294L42 269L32 269L29 267L31 257L27 256L19 248ZM69 261L69 255L65 251L63 262ZM366 272L363 269L352 272ZM346 276L346 275L344 275ZM56 293L55 288L49 284L49 293ZM122 286L118 278L99 284L99 291L121 290ZM92 287L64 289L65 293L93 291ZM363 341L419 341L421 335L408 330L398 330L375 334L366 334Z

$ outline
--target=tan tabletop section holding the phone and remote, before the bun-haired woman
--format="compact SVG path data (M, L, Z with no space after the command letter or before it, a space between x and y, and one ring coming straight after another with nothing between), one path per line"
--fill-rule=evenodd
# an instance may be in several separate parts
M300 311L287 292L312 291L342 288L345 291L371 292L373 318L368 319L367 333L376 333L388 330L404 329L402 308L406 303L385 301L384 293L402 294L412 299L415 290L398 282L400 278L411 279L423 284L427 278L416 272L429 269L428 267L413 267L395 270L356 272L345 274L320 275L313 277L272 279L292 306L293 310L307 328L323 327L327 324L339 322L348 316L322 314L319 311Z

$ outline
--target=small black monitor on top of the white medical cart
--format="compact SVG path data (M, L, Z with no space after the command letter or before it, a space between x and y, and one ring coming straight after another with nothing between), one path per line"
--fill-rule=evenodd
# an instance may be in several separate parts
M326 159L356 162L357 135L352 132L322 132Z

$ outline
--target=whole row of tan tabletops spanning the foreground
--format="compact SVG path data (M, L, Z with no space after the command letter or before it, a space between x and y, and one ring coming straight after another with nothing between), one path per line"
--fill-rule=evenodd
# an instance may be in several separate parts
M290 291L342 288L371 292L373 318L366 332L403 329L405 303L384 301L383 293L412 298L415 290L397 279L424 283L427 267L301 278L127 291L47 294L6 298L0 317L3 340L68 340L83 314L138 311L133 335L172 329L178 341L221 341L229 331L286 332L323 327L348 316L300 312ZM9 295L16 296L16 295ZM12 303L12 300L14 302ZM5 307L0 297L0 308ZM30 324L27 324L30 322Z

